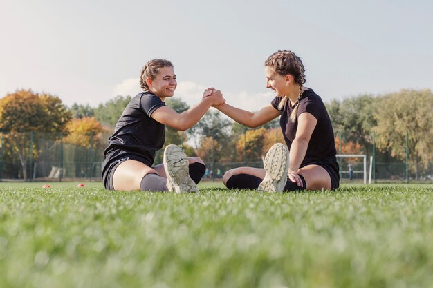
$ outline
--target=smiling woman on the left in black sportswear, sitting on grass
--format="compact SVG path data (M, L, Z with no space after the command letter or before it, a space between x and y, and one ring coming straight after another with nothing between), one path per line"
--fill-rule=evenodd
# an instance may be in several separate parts
M165 142L165 126L184 131L199 122L210 106L225 102L219 90L201 99L199 104L176 113L165 106L173 97L177 81L173 64L153 59L142 68L140 85L144 92L123 111L109 146L104 151L102 182L109 190L196 192L196 184L205 173L199 157L187 158L182 149L168 145L163 164L152 166L155 151Z

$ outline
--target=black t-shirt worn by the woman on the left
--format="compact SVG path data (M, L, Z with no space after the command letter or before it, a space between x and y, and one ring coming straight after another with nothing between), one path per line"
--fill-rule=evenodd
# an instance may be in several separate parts
M165 142L165 125L153 118L156 109L165 103L156 95L142 92L131 99L116 124L113 135L109 137L109 146L104 155L111 148L122 148L138 153L154 152L163 148Z

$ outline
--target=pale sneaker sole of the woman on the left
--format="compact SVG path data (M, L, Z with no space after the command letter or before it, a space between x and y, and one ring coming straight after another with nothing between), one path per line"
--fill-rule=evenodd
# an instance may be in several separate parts
M199 192L196 183L190 177L187 155L181 148L173 144L165 147L163 163L169 191Z

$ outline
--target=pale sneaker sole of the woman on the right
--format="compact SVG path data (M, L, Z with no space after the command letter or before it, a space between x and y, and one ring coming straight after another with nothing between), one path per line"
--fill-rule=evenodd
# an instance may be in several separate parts
M277 143L270 147L264 159L266 175L259 184L259 191L282 192L287 182L288 148Z

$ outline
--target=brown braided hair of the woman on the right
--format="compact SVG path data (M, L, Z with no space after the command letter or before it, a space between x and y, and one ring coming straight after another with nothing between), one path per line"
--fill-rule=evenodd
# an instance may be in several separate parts
M302 95L302 87L305 83L305 68L300 57L297 57L295 53L288 50L278 50L277 52L270 55L265 61L265 66L270 66L275 69L279 75L293 75L294 81L300 86L300 94L297 97L297 102L295 103L295 108L291 113L291 122L295 122L297 107ZM284 104L287 102L287 95L283 97L281 102L279 102L278 109L282 110Z

